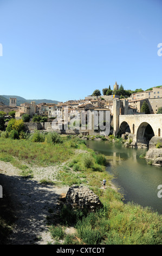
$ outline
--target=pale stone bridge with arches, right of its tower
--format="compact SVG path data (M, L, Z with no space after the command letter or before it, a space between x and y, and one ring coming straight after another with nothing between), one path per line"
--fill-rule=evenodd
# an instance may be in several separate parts
M132 133L136 143L147 143L153 136L162 137L162 114L119 115L119 130Z

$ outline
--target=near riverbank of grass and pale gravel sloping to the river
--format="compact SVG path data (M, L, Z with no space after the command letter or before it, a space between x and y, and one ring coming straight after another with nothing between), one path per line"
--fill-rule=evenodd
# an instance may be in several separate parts
M104 157L88 149L83 141L65 138L60 146L50 145L50 155L55 153L58 163L56 158L40 160L40 154L47 155L46 142L0 139L1 178L12 184L8 193L15 198L16 208L20 206L8 244L161 244L161 215L137 204L124 204L111 186L112 175L106 172ZM32 149L34 155L28 152ZM102 188L103 178L107 179L106 190ZM93 215L64 208L59 198L74 184L90 187L103 208ZM72 217L73 224L67 216Z

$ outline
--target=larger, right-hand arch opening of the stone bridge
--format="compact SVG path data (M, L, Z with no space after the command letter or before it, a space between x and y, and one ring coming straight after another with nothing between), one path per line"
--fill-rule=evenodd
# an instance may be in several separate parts
M147 122L142 122L137 130L137 143L147 144L150 142L150 139L155 136L152 126Z

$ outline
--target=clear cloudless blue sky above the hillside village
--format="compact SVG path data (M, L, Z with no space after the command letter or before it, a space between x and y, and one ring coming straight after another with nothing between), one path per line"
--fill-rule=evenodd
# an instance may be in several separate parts
M162 0L0 0L0 95L162 86ZM161 50L162 52L162 50Z

